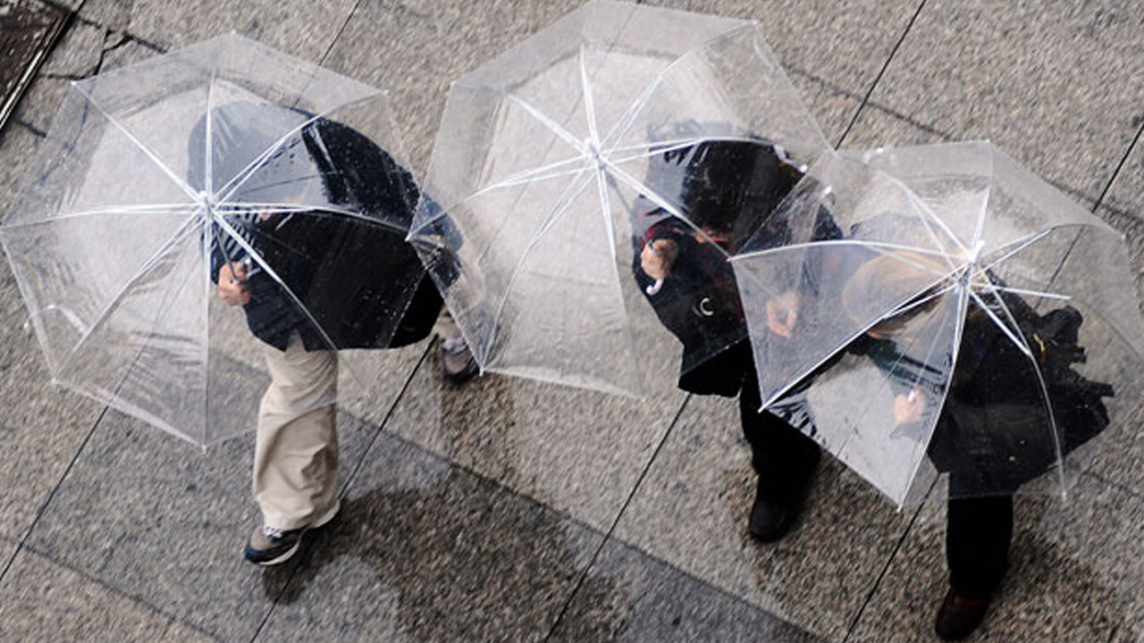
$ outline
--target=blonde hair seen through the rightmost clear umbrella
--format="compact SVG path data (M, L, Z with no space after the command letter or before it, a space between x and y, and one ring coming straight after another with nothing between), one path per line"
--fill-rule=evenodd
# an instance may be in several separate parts
M938 259L913 251L895 251L881 254L861 264L847 279L842 287L842 309L850 319L860 324L885 315L887 300L895 296L892 303L907 303L925 296L932 296L942 287L944 277L951 272L947 263ZM908 294L906 301L900 297ZM915 315L932 310L943 296L932 299L921 305L911 308L898 316L882 320L876 328L879 334L889 335L899 332Z

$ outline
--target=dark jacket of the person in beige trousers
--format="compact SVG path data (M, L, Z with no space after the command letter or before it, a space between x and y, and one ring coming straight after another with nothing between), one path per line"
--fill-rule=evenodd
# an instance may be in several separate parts
M249 114L241 113L249 108L243 105L217 109L238 113L230 118L237 132L214 146L215 185L273 145L280 132L280 124L273 134L259 132L259 121L249 122ZM283 108L259 109L277 110L271 118L293 118L299 125L312 118ZM192 143L192 159L197 149L200 144ZM321 191L313 209L228 214L245 244L213 227L213 278L224 262L246 259L247 246L262 259L248 262L251 302L244 309L251 332L283 350L294 331L307 350L329 349L331 343L337 349L386 348L428 335L442 301L405 241L419 197L410 173L357 130L318 118L288 137L233 201L293 203L307 188ZM325 204L328 209L321 208Z

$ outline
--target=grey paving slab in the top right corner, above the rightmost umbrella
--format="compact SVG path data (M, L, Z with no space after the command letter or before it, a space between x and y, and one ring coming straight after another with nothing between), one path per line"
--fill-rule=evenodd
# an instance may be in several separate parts
M932 0L871 98L1095 199L1139 128L1141 18L1111 1Z

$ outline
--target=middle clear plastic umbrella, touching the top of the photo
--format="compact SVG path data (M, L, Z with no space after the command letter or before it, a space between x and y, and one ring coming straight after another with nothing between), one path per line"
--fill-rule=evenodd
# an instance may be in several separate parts
M670 220L691 263L723 264L734 308L734 239L698 221L699 193L781 182L827 149L754 23L589 2L453 82L411 239L484 371L641 396L678 366L657 313L692 308L637 277L649 231ZM714 185L716 157L739 176ZM737 193L738 243L766 191ZM685 371L745 339L726 317Z

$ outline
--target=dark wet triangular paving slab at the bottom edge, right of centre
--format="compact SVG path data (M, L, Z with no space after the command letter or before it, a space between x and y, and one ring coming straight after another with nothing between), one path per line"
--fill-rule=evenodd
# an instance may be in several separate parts
M589 641L601 628L618 643L823 641L614 540L604 546L588 579L611 584L619 603L602 609L593 586L581 588L549 641Z

